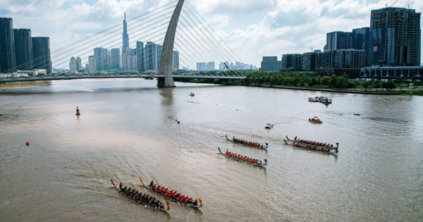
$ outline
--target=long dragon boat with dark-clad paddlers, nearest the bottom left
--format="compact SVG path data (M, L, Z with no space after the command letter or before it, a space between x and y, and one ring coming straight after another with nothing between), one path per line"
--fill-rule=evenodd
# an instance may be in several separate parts
M129 197L130 199L133 199L135 202L161 211L168 211L169 209L171 209L169 206L169 202L167 201L165 206L163 202L161 202L159 199L156 199L155 197L150 197L147 194L143 194L142 192L139 192L132 187L122 187L122 183L121 185L119 185L119 187L116 187L113 182L113 179L110 179L110 181L111 184L115 187L115 189L118 190L118 192L125 195L126 197Z

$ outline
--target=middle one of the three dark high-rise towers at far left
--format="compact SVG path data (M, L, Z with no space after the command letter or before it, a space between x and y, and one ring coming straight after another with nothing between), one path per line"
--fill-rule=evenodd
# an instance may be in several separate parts
M20 28L13 30L17 70L32 70L31 30Z

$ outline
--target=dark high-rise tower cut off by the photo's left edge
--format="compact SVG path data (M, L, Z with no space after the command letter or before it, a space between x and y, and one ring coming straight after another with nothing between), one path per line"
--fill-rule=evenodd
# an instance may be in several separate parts
M11 73L16 69L13 20L0 18L0 73Z

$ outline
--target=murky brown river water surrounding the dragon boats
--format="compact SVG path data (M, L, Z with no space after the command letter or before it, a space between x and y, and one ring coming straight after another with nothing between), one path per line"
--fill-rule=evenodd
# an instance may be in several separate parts
M156 85L1 84L0 221L423 221L423 97ZM333 104L307 101L314 96ZM309 123L313 116L323 123ZM286 135L339 142L339 152L291 147ZM268 165L227 159L218 147ZM139 177L203 206L156 211L110 183L165 200Z

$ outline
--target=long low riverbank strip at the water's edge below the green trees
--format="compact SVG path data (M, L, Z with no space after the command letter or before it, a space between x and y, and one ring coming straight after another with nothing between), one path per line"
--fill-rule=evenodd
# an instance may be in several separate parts
M224 83L224 85L243 85L243 84L234 84L234 83ZM311 91L324 91L324 92L345 92L345 93L356 93L356 94L405 94L405 95L423 95L423 89L329 89L324 87L295 87L295 86L283 86L283 85L265 85L265 84L249 84L243 86L250 87L270 87L270 88L279 88L279 89L289 89L289 90L311 90Z

